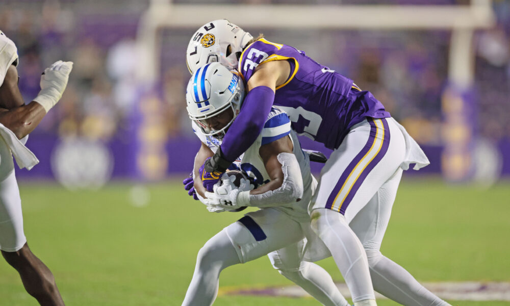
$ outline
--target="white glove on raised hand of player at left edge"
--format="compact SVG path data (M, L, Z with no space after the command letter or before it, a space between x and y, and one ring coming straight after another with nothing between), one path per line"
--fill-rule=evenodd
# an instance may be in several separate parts
M42 105L46 113L54 107L62 97L71 70L72 62L62 61L55 62L53 65L44 69L40 83L41 91L34 101Z

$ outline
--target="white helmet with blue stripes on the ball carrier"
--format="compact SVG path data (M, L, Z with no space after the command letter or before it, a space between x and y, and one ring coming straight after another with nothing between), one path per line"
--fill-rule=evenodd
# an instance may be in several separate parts
M220 63L206 64L191 75L186 89L186 109L203 135L221 139L239 114L244 94L243 81L235 70ZM206 119L227 109L234 113L232 120L221 130L211 130Z

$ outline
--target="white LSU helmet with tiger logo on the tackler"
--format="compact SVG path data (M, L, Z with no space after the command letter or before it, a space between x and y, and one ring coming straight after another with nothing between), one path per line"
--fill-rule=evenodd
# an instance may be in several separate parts
M193 34L188 44L188 69L193 73L199 67L212 62L235 68L244 47L251 39L251 34L226 19L206 23Z

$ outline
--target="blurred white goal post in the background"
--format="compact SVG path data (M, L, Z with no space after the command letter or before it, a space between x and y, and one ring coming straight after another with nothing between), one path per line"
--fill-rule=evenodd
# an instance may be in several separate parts
M247 13L249 12L249 13ZM152 0L142 15L137 45L144 63L138 71L140 84L159 79L162 29L195 31L201 24L226 18L243 28L326 30L447 30L451 31L448 86L442 99L444 154L442 169L451 181L469 179L474 141L473 34L494 27L491 0L471 0L469 5L183 5ZM183 46L183 61L186 46ZM454 104L456 107L452 107ZM471 109L470 109L471 108ZM470 125L471 124L471 125ZM448 133L448 131L454 131Z

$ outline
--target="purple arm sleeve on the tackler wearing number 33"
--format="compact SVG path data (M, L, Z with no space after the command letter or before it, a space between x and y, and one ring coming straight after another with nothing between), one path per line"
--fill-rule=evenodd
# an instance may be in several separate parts
M248 92L239 115L223 138L223 157L233 162L257 140L274 102L274 91L258 86Z

